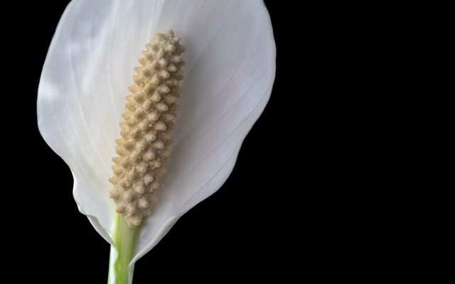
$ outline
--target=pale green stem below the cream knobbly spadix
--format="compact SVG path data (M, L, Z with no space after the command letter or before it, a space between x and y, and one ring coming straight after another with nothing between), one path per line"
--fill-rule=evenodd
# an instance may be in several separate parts
M140 226L129 227L122 215L115 214L112 239L114 240L115 247L117 247L118 256L115 258L116 248L111 246L108 284L129 284L128 265L136 250L139 229Z

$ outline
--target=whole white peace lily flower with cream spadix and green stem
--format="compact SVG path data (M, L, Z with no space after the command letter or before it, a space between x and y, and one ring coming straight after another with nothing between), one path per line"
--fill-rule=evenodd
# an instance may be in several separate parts
M156 33L169 28L176 34L169 32L154 39ZM151 45L146 47L147 43ZM186 46L181 55L186 61L184 66L174 57L183 51L180 43ZM167 174L159 176L164 178L159 183L162 191L153 207L149 201L156 201L156 197L151 197L152 191L150 195L144 192L151 180L122 187L117 180L113 181L115 186L109 183L112 158L117 156L115 141L121 133L119 123L128 124L131 111L144 99L134 97L131 92L137 89L129 86L136 83L139 91L144 90L141 88L145 85L134 75L144 71L141 64L149 64L146 59L138 62L147 56L151 58L149 63L166 59L150 69L159 75L156 85L149 89L150 95L161 88L156 94L161 97L152 106L160 109L160 99L168 103L168 107L161 107L164 117L166 111L176 112L173 107L168 110L173 99L179 97L180 105L177 119L170 119L176 130L171 133ZM274 60L272 26L260 0L73 0L68 5L41 75L38 126L45 141L73 173L78 209L111 244L109 283L132 283L134 263L163 238L182 214L223 185L243 139L267 104ZM134 67L139 69L135 71ZM184 79L178 75L180 69ZM177 89L180 80L181 88ZM166 82L170 88L159 87L159 82ZM171 95L174 97L169 99ZM150 99L153 101L153 97ZM134 115L145 119L145 114ZM156 121L149 125L154 129L148 131L166 131L169 125ZM144 128L149 126L144 124ZM124 140L117 140L117 153L138 147L134 144L137 141L127 140L131 133L122 136ZM167 146L156 147L164 151ZM163 151L149 154L149 158ZM114 173L120 164L117 160ZM146 168L137 179L145 175ZM122 209L117 195L124 192L115 190L130 187L136 192L132 200L142 196L149 199L134 200L139 204L134 210ZM139 216L138 208L149 206L151 210L144 213L144 219L142 215L132 218Z

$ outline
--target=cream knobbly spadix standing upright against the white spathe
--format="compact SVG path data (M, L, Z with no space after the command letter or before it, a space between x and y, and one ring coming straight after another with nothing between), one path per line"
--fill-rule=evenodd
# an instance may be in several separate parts
M171 130L177 116L177 99L183 80L180 57L185 47L172 30L155 35L136 67L135 84L120 123L122 138L116 140L117 157L112 158L114 184L110 197L117 213L129 226L139 226L158 200L171 144Z

